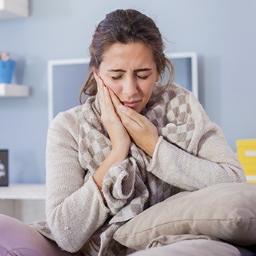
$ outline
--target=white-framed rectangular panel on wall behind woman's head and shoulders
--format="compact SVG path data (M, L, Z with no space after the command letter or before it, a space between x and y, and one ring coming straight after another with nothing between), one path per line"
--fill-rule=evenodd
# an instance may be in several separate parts
M166 54L175 66L174 82L191 90L199 98L198 57L195 52ZM48 61L48 122L57 113L79 104L78 96L87 72L89 58Z

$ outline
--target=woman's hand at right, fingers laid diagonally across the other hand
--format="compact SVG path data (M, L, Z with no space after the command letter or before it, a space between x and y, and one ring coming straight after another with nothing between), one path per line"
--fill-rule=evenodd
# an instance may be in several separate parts
M124 106L118 97L110 90L110 97L120 120L133 138L134 143L149 156L153 156L159 135L156 126L146 117L130 107Z

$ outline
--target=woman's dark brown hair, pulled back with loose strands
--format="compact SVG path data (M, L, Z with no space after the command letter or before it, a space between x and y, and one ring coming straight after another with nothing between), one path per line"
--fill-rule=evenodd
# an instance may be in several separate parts
M171 61L163 53L162 35L153 19L134 9L116 10L106 15L106 18L100 21L94 32L89 47L90 72L84 87L80 91L80 103L82 103L83 94L95 95L97 93L97 84L92 67L100 67L100 63L103 61L103 54L115 43L146 44L153 50L158 73L163 74L167 67L170 73L170 80L172 80L174 68Z

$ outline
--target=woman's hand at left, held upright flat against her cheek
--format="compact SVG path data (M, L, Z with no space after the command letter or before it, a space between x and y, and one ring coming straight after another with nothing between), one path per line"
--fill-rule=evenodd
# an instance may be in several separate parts
M120 161L123 161L126 159L130 149L130 136L113 107L110 89L104 85L100 77L97 77L97 89L100 100L101 120L110 136L112 151L120 156Z

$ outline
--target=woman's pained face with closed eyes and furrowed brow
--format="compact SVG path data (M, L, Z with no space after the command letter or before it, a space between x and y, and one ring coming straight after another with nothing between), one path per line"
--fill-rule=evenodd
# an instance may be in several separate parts
M143 43L112 44L95 72L123 105L138 113L148 103L159 80L153 51Z

